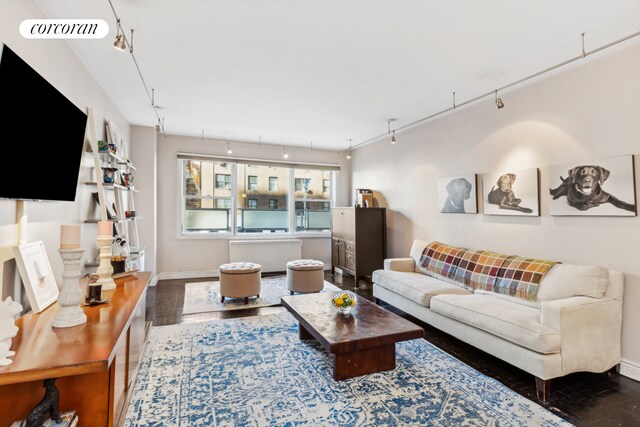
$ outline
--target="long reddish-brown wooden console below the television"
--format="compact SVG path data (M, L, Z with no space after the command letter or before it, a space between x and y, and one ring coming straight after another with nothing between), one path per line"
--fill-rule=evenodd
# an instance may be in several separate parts
M151 273L116 280L108 304L85 307L87 323L53 328L59 306L26 314L11 346L13 364L0 367L0 425L24 419L42 399L42 380L58 378L60 410L75 409L80 425L118 425L146 342L146 291ZM86 284L87 278L81 280Z

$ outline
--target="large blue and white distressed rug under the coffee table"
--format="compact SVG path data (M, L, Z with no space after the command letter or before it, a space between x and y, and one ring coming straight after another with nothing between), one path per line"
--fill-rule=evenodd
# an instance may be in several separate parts
M288 313L152 328L124 425L567 426L427 341L344 381Z

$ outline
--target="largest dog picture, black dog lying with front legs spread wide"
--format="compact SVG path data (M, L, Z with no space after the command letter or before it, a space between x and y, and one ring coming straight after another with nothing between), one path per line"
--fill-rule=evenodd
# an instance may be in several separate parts
M551 215L635 216L633 156L549 168Z

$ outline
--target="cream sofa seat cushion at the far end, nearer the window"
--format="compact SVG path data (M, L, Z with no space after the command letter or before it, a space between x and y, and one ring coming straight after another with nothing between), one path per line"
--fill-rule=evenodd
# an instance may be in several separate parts
M441 294L466 294L466 289L444 282L422 273L404 271L376 270L372 276L373 282L392 292L402 295L411 301L429 307L431 297Z

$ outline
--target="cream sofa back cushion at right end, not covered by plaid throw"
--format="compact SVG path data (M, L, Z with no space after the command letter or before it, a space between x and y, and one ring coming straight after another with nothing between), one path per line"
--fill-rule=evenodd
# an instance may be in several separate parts
M602 298L609 285L609 272L592 265L557 264L544 276L538 300L549 301L573 296Z

